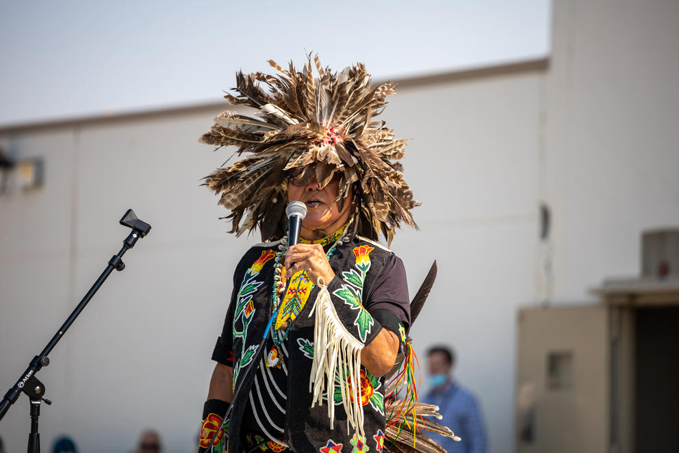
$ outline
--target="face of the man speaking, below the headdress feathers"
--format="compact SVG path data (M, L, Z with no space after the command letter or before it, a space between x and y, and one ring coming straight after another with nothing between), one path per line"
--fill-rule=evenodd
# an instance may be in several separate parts
M315 177L311 177L305 185L295 185L294 179L290 180L287 185L287 203L298 200L307 206L307 216L302 221L303 235L305 231L325 231L335 227L337 223L346 222L350 203L344 203L344 209L340 211L339 205L335 202L339 193L340 179L337 175L321 190L318 190L318 181ZM342 227L342 224L336 225L335 228L339 227Z

